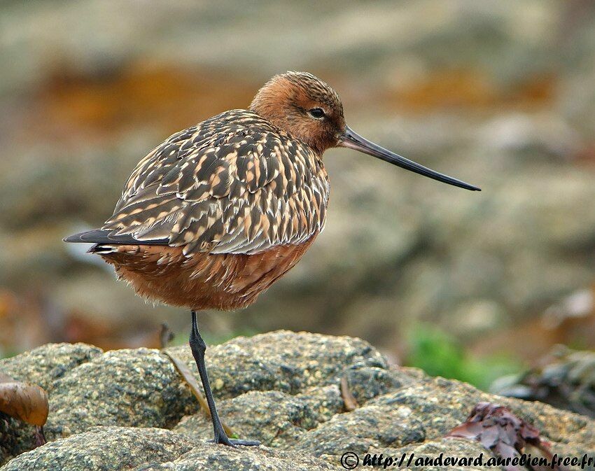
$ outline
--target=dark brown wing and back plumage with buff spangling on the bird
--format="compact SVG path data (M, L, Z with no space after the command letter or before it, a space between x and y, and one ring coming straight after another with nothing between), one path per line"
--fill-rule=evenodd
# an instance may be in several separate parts
M258 253L322 230L328 190L314 151L255 113L228 111L144 157L102 229L186 255Z

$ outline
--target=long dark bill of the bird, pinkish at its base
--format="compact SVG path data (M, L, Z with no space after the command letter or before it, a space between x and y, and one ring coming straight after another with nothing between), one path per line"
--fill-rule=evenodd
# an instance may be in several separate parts
M374 144L373 142L368 141L356 132L353 132L349 128L349 126L345 127L345 131L343 135L339 138L339 143L337 145L354 150L359 150L360 152L363 152L368 155L373 155L374 157L378 157L380 160L384 160L384 162L396 165L397 167L401 167L402 169L414 171L416 174L425 175L430 178L433 178L434 180L442 181L443 183L448 183L449 185L465 188L465 190L482 190L481 188L477 188L477 186L470 185L469 183L457 180L456 178L452 178L451 176L439 174L437 171L428 169L428 167L423 167L423 165L417 164L416 162L406 159L405 157L401 157L400 155L395 154L390 150L386 150L385 148L377 146L377 144Z

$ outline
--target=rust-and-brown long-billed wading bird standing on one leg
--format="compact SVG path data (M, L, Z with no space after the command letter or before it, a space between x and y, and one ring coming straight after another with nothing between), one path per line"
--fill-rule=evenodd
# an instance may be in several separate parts
M141 297L190 310L190 349L217 444L259 442L223 430L197 313L247 307L302 258L325 227L330 185L323 153L335 147L480 190L363 138L346 125L330 85L288 71L265 83L248 109L169 136L139 161L102 227L64 239L92 243L89 252Z

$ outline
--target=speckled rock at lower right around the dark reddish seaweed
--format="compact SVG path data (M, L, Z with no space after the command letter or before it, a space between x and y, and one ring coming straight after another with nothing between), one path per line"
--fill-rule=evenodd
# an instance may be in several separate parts
M372 449L390 448L393 454L395 450L402 453L416 443L440 440L482 401L509 407L532 423L552 444L554 453L579 457L595 453L595 422L585 416L540 402L501 398L460 381L430 377L378 396L349 414L333 417L304 433L295 448L331 463L338 463L346 451L365 454Z

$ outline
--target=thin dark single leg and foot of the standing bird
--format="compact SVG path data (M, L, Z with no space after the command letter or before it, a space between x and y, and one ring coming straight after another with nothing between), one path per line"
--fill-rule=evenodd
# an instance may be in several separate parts
M213 392L211 391L211 385L209 384L209 375L207 374L207 367L204 365L204 352L207 351L207 344L198 332L198 324L196 321L196 311L192 311L192 330L190 331L190 349L194 356L194 360L198 367L198 373L200 374L200 380L202 381L202 388L204 389L204 396L207 398L207 404L211 411L211 420L213 421L213 429L215 432L215 443L228 445L228 447L235 447L236 445L244 446L258 446L260 442L255 440L233 440L225 434L219 414L217 413L217 407L215 406L215 400L213 398Z

